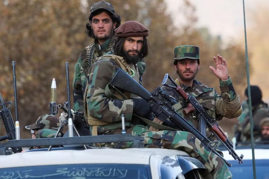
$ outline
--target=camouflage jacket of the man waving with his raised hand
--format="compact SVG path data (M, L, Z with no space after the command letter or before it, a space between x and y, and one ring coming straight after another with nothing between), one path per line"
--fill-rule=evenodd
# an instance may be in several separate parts
M175 80L179 84L178 79ZM238 117L242 110L238 95L233 88L232 81L229 79L225 81L219 81L221 95L219 95L214 88L201 84L199 81L193 81L192 87L185 84L179 84L180 87L188 94L194 96L197 101L204 107L207 113L216 120L221 120L223 117L235 118ZM179 102L173 107L182 117L184 117L190 124L198 129L199 120L193 112L189 112L184 115L183 109L188 106L186 100L175 89L162 86L163 90L170 93ZM209 137L211 134L207 133ZM215 138L212 140L215 141Z

